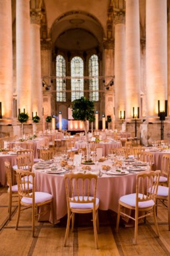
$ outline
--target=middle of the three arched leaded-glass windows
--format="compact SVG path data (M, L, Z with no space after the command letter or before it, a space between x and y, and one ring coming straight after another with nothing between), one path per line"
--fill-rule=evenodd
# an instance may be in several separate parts
M84 63L82 58L74 57L71 60L71 101L84 96Z

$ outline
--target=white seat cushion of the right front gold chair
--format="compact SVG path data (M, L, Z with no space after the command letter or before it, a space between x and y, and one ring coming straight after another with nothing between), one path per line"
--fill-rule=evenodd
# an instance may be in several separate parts
M142 198L142 194L138 194L138 196L140 198ZM119 199L122 203L125 203L127 205L130 205L131 207L136 207L136 193L134 194L129 194L129 195L123 195L123 197L121 197ZM148 201L144 201L144 202L139 202L138 203L138 208L146 208L146 207L152 207L154 206L154 201L153 200L148 200Z

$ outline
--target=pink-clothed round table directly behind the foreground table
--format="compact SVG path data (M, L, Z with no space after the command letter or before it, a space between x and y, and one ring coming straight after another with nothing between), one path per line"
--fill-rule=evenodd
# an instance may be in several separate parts
M107 142L107 143L98 143L96 144L99 147L103 148L103 152L102 155L103 156L107 156L109 153L109 149L111 148L121 148L121 142L117 141L117 142ZM86 142L82 142L82 141L76 141L75 142L75 148L86 148Z

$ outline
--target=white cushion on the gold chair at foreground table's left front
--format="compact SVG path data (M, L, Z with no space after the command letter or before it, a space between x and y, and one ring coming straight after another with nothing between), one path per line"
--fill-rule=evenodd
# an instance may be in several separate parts
M31 195L32 193L30 193ZM49 193L45 193L45 192L35 192L35 203L44 203L46 201L49 201L53 199L53 195L49 194ZM22 203L26 203L29 205L32 205L32 198L28 198L28 197L22 197L21 199Z

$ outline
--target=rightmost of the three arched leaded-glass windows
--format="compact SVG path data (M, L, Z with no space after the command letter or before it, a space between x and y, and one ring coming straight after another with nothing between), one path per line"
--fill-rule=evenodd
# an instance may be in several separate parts
M95 54L92 55L88 61L88 73L89 77L94 77L89 79L89 98L97 102L99 100L99 63L98 56Z

